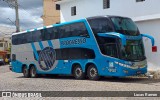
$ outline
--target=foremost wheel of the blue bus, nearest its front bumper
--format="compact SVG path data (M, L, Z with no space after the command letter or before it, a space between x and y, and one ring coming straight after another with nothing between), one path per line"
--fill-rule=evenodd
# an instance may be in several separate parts
M98 75L98 70L95 65L91 64L87 69L87 76L90 80L98 80L100 77Z

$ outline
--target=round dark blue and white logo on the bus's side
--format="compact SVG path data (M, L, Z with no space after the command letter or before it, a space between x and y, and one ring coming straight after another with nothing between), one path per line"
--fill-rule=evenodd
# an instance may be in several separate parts
M44 71L48 71L53 68L56 60L56 52L52 47L46 47L39 53L39 65ZM53 68L54 69L54 68Z

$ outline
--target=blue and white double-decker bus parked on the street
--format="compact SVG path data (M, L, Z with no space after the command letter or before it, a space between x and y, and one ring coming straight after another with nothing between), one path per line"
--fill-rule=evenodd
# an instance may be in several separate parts
M143 37L127 17L96 16L14 33L12 71L24 77L73 75L98 80L147 72Z

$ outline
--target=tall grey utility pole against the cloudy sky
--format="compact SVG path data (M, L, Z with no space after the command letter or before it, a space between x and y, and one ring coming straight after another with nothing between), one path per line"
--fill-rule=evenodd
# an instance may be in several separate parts
M15 0L15 13L16 13L16 32L20 31L19 26L19 13L18 13L18 1Z

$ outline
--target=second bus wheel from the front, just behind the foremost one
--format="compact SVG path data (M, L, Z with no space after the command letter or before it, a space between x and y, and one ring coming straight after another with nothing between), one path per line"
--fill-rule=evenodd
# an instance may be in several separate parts
M79 80L84 79L85 74L83 73L83 70L79 64L75 65L75 67L73 69L73 76Z

